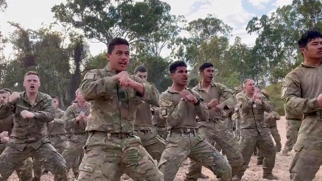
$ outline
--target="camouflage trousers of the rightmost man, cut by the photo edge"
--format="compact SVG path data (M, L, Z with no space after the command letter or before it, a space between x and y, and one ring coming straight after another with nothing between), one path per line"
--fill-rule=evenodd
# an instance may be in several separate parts
M315 180L322 165L322 121L316 117L305 117L303 123L306 124L301 126L293 146L295 154L289 168L291 181Z

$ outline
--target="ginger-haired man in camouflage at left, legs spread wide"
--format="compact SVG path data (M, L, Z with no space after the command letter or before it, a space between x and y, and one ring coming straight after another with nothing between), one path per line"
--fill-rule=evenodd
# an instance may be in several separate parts
M46 123L54 119L52 97L38 91L37 72L27 72L23 86L26 91L12 92L8 102L0 106L0 119L14 114L9 145L0 155L0 181L6 181L28 157L40 160L55 181L67 181L65 160L46 136Z

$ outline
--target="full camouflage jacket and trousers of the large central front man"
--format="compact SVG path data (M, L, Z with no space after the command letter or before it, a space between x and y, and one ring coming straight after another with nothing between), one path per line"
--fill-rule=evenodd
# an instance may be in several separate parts
M130 76L143 85L142 95L120 86L114 75L115 71L94 69L80 85L84 98L92 104L78 181L119 181L123 172L135 181L163 181L154 159L133 135L137 106L142 100L158 105L159 92L143 79Z

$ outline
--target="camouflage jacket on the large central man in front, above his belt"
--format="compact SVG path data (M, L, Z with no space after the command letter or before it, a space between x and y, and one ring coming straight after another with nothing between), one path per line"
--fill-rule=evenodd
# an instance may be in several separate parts
M94 69L86 73L80 89L86 100L92 101L86 131L131 133L136 109L142 100L158 105L159 92L143 79L130 78L144 87L144 94L113 81L115 71Z

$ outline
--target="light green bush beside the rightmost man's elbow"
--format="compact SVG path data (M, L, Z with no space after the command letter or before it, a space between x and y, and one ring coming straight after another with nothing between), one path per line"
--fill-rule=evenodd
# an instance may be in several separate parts
M268 91L269 102L273 105L273 110L279 115L284 115L284 102L280 98L281 85L271 84L265 90Z

